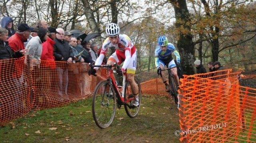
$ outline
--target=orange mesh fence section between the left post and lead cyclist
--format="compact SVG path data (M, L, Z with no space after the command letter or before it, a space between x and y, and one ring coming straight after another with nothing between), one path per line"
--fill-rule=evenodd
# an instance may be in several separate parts
M32 106L53 108L92 96L98 82L106 79L106 70L101 69L102 74L99 70L98 76L89 76L88 69L88 63L41 61L40 68L32 70Z

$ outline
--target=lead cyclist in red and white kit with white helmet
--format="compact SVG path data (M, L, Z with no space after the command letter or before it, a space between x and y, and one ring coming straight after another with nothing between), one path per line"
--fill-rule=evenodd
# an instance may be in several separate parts
M134 74L136 72L137 67L137 54L136 48L132 43L130 37L125 34L119 34L120 28L117 24L110 23L106 27L106 34L108 38L104 41L102 45L102 50L100 52L99 57L97 58L95 65L101 65L106 55L108 48L113 47L116 51L108 58L107 64L117 63L120 65L124 62L121 69L118 69L116 72L118 74L122 74L127 72L127 80L131 85L132 94L135 96L132 104L134 106L138 106L138 86L134 81ZM88 71L88 74L95 75L96 70L98 68L94 68ZM124 86L124 85L123 85Z

